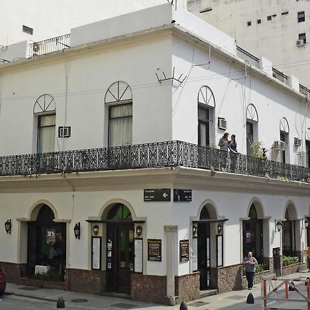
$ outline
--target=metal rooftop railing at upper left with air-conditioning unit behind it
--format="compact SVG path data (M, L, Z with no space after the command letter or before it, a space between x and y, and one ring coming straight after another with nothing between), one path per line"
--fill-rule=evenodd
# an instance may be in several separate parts
M70 34L64 34L60 37L34 42L30 44L30 57L49 54L58 50L70 48Z

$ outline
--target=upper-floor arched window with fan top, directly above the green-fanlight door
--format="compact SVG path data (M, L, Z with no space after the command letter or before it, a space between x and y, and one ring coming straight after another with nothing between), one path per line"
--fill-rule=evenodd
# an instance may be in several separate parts
M125 82L113 83L105 93L109 108L109 147L132 144L132 90Z

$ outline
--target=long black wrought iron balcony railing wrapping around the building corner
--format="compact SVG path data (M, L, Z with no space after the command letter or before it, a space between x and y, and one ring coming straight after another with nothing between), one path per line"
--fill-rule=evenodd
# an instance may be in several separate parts
M150 167L196 167L307 182L308 167L232 154L183 141L167 141L0 157L0 176L90 172Z

